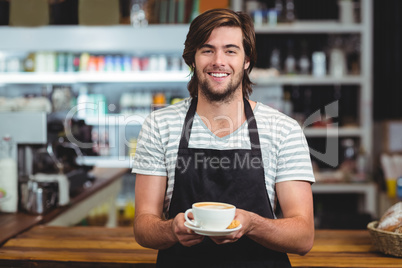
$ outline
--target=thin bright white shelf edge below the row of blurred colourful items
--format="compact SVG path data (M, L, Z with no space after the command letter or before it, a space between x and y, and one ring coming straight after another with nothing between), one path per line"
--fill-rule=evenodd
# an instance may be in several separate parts
M1 73L0 84L188 82L189 71L122 73Z

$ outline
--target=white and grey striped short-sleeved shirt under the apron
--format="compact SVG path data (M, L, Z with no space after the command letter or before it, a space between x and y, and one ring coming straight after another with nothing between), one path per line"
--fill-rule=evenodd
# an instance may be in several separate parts
M167 177L164 212L167 212L173 194L177 152L190 104L191 98L187 98L152 112L146 118L137 140L132 172ZM309 148L300 125L292 118L259 102L253 112L261 144L265 186L271 207L275 208L275 183L315 181ZM227 136L220 138L216 134L196 114L189 147L217 150L251 148L247 121Z

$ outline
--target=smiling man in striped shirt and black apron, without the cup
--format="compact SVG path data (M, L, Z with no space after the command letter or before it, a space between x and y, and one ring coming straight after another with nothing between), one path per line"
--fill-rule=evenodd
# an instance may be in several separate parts
M290 267L286 253L303 255L313 244L314 176L297 122L249 100L256 61L250 17L226 9L201 14L183 58L193 73L190 98L153 112L138 139L137 242L159 249L158 267ZM196 234L183 212L200 201L235 205L241 228Z

